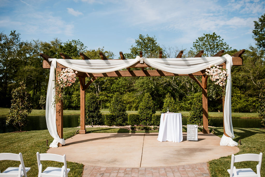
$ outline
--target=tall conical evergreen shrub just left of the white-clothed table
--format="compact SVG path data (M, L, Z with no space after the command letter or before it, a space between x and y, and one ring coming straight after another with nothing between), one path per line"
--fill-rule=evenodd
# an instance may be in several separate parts
M145 93L143 101L139 105L138 114L143 125L150 125L152 122L152 115L155 114L152 97L149 93Z

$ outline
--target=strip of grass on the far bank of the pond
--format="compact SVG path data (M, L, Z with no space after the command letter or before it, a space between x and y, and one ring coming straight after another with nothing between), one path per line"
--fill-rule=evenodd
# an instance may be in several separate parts
M6 115L8 108L0 107L0 115ZM109 114L108 109L102 109L101 113ZM128 114L137 114L137 111L127 111ZM189 116L188 111L180 111L183 116ZM64 110L63 114L80 114L80 110ZM156 111L156 114L161 114L161 111ZM30 115L45 115L45 110L33 109ZM223 113L209 112L210 117L223 117ZM258 118L258 113L232 113L232 118Z

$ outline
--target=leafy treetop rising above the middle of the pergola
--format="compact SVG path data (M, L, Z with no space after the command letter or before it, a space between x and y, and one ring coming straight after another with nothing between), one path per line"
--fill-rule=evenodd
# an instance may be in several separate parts
M143 56L145 58L158 58L159 51L163 49L157 44L156 38L142 34L139 34L139 38L135 40L135 46L131 46L131 53L124 54L126 58L135 58L139 55L139 51L143 51Z

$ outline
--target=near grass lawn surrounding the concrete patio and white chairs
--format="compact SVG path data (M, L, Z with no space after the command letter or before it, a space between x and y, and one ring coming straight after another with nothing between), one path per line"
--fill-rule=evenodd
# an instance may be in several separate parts
M213 127L215 135L221 137L223 135L223 127ZM77 128L64 128L64 139L70 138L75 135ZM210 128L210 132L212 128ZM186 127L183 127L183 132L187 131ZM199 127L199 131L201 128ZM128 133L135 132L129 131L123 128L87 128L88 133ZM137 132L158 132L156 131L137 131ZM237 141L241 139L241 145L238 145L240 151L237 154L244 153L264 153L265 152L265 129L258 128L234 128L235 139ZM46 139L49 144L53 140L48 130L29 131L21 133L1 133L0 136L0 153L19 153L23 155L24 163L26 167L31 167L28 172L28 176L37 176L37 158L36 152L46 153L48 147L46 146ZM217 152L218 153L218 152ZM237 155L235 154L235 155ZM155 158L155 157L154 157ZM265 176L265 154L262 158L261 176ZM212 160L209 163L209 171L211 176L228 176L227 169L230 168L231 156L221 157L216 160ZM17 163L17 166L19 163ZM43 164L43 169L47 166L57 165L62 166L62 163L48 162ZM256 169L257 163L240 162L235 163L237 168L250 167L253 170ZM5 170L8 166L14 166L14 162L0 161L0 170ZM83 171L83 165L74 162L67 162L67 167L70 168L69 176L81 176Z

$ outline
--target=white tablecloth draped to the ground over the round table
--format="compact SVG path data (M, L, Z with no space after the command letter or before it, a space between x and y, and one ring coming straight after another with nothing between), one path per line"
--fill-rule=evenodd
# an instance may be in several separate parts
M165 115L165 119L164 119ZM181 113L162 113L158 133L158 141L182 141Z

